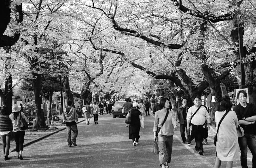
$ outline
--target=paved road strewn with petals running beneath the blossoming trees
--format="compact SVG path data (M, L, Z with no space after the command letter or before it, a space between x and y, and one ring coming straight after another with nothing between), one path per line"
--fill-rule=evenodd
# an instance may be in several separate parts
M77 147L68 147L64 130L25 147L24 160L17 159L16 152L10 153L12 159L1 160L0 167L159 167L158 155L152 154L153 122L153 116L145 117L139 145L133 147L132 140L128 139L128 128L124 127L124 118L99 116L98 125L93 122L78 124ZM194 151L195 142L187 146L181 143L179 130L175 134L170 167L214 167L213 135L209 136L209 144L204 145L204 155L200 156ZM226 162L221 167L226 167ZM240 167L240 162L234 162L234 167Z

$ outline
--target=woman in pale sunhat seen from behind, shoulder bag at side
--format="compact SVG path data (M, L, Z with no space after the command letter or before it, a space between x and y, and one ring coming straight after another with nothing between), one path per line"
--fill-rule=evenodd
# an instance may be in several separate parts
M14 104L12 108L12 114L9 115L9 118L12 120L13 123L13 132L15 136L15 144L16 144L16 152L18 154L18 159L22 160L22 151L23 151L23 143L24 143L24 136L25 130L20 128L20 116L28 122L27 117L24 115L23 112L20 111L21 106Z

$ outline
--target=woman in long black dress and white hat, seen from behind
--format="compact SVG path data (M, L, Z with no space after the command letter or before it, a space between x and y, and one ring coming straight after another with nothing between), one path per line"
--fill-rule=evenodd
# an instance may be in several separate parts
M138 110L138 103L133 103L133 107L131 109L131 123L129 126L129 139L132 139L133 146L138 145L140 138L140 127L141 122L141 112ZM136 139L136 141L135 141Z

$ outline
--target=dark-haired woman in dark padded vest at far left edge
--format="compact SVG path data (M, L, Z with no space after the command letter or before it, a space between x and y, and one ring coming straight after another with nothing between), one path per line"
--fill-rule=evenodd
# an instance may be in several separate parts
M0 136L2 140L2 147L4 153L4 160L9 160L9 149L10 149L10 141L12 137L13 125L12 121L9 118L7 106L3 106L0 113Z

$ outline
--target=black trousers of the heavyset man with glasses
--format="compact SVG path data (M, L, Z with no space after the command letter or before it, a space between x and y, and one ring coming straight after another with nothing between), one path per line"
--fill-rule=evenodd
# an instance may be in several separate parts
M205 128L202 125L193 125L191 130L190 141L195 138L196 141L196 151L202 151L203 149L203 140L204 140Z

